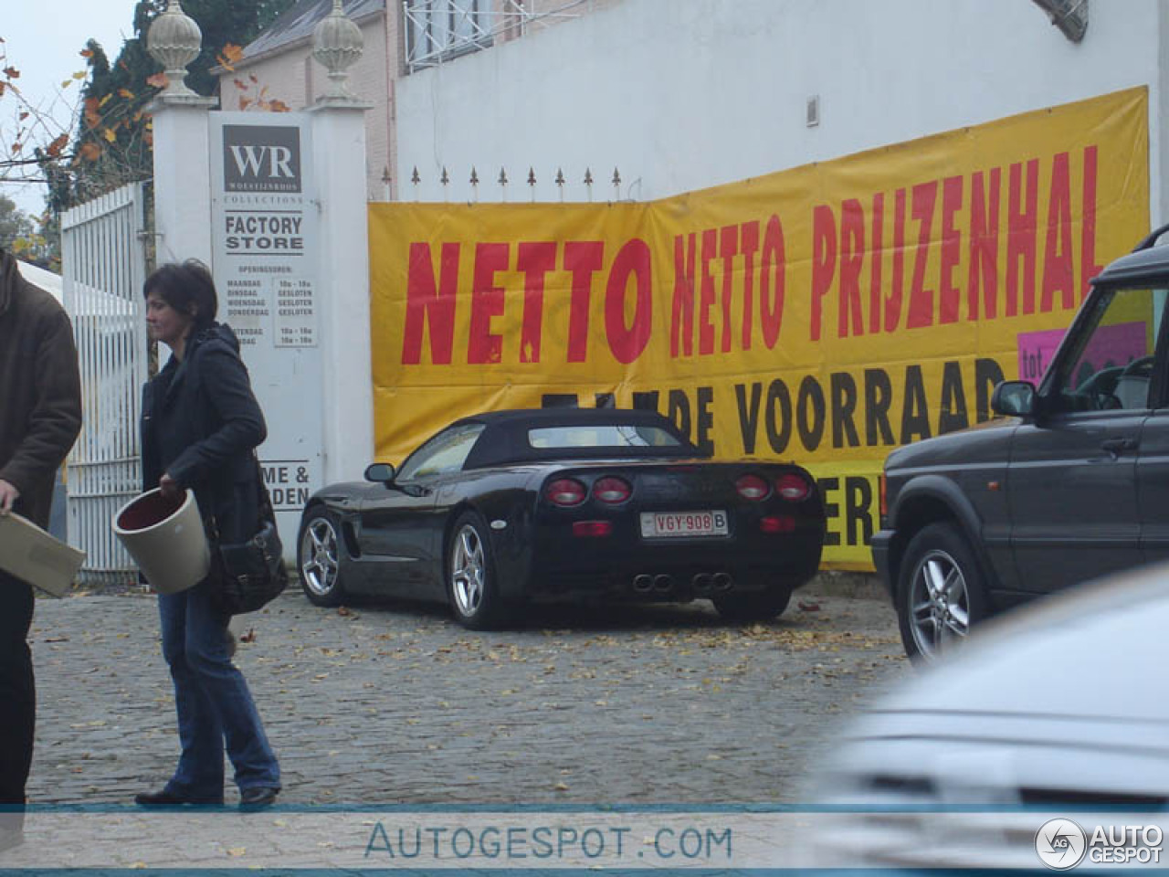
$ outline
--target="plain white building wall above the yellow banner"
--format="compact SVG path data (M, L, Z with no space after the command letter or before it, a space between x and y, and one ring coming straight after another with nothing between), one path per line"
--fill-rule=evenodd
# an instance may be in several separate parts
M1146 84L1161 195L1165 0L1091 4L1068 41L1030 0L624 0L399 80L397 196L638 201ZM807 127L819 96L821 123ZM422 182L409 182L414 167Z

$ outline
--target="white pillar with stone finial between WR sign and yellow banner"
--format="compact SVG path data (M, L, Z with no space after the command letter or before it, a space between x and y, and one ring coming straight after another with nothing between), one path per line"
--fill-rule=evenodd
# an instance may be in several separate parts
M373 462L369 352L369 236L365 111L345 70L361 55L361 32L340 0L313 33L313 57L330 90L309 108L320 193L320 345L324 481L353 481Z

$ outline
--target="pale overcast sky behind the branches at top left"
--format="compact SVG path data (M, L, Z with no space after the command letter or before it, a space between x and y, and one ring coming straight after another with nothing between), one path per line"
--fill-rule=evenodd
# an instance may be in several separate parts
M136 0L2 0L0 46L7 63L20 70L16 81L25 96L42 111L54 116L64 131L71 127L82 83L62 89L61 83L85 69L78 53L92 37L102 43L110 61L118 56L122 42L133 35ZM15 103L0 97L0 131L5 153L15 131ZM44 186L0 181L7 195L28 213L44 209Z

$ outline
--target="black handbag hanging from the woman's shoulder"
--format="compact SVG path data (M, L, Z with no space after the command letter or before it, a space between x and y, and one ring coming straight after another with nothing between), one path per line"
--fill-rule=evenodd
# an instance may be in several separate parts
M256 463L256 491L260 498L260 532L245 543L220 543L213 537L213 564L216 565L215 599L220 607L241 615L267 606L289 583L284 568L284 547L276 530L276 512L264 484L264 474Z

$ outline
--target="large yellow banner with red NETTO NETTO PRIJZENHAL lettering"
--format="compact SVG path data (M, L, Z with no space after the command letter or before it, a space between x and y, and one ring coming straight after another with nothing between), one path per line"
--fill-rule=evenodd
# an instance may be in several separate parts
M1144 88L650 203L369 207L379 458L451 420L615 403L794 460L871 569L885 455L1037 380L1147 233Z

